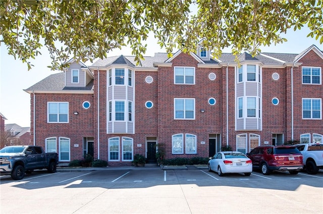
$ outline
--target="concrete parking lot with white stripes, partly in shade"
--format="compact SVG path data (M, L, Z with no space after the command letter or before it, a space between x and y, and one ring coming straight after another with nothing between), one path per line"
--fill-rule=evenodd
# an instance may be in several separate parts
M92 168L94 169L94 168ZM1 213L322 213L323 172L106 168L1 176Z

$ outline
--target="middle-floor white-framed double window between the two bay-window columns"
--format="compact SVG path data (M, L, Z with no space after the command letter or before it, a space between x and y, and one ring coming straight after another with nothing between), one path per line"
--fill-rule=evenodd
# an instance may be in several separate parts
M195 99L194 98L175 98L174 99L174 118L175 119L195 119Z

